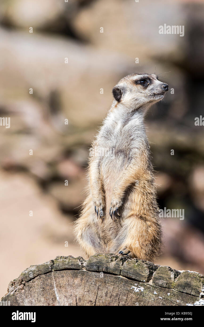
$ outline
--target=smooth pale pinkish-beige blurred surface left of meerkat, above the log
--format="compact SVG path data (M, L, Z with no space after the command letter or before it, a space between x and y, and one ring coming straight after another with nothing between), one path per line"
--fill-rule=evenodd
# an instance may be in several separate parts
M82 253L73 245L72 217L63 215L55 199L44 194L27 174L0 171L0 189L0 246L4 249L0 253L4 262L0 292L3 295L9 281L25 267L40 264L59 253L65 256ZM33 216L29 215L30 211Z

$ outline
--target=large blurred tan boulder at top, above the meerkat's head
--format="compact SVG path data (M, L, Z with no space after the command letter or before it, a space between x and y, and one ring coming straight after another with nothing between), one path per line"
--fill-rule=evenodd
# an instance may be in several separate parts
M176 59L183 56L181 44L185 44L184 38L173 34L167 38L158 30L163 22L184 25L185 11L181 10L181 6L179 1L172 1L166 10L166 4L160 1L152 6L151 0L138 3L131 0L98 0L79 11L74 27L95 46L128 54L132 62L138 57L141 64L147 58L157 56L158 47L161 57ZM100 33L101 27L103 33Z

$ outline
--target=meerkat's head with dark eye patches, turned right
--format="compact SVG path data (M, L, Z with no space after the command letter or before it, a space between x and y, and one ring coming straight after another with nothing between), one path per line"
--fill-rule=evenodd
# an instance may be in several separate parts
M117 102L135 110L160 101L168 90L168 84L160 82L155 74L131 74L122 78L112 92Z

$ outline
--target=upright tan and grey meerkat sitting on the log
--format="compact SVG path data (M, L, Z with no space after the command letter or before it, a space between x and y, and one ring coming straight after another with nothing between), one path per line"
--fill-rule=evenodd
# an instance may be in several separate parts
M75 224L88 257L113 253L153 261L158 254L162 232L144 116L167 91L155 74L128 75L112 90L112 106L90 149L88 194Z

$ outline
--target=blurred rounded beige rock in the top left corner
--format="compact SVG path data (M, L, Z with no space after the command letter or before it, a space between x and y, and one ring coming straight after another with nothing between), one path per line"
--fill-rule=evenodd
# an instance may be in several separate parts
M76 14L79 1L69 0L3 0L0 5L1 21L6 26L16 26L24 29L47 30L52 32L67 32L68 22Z

